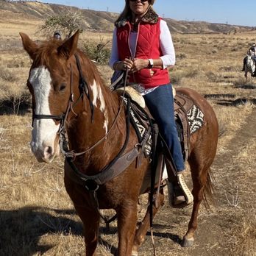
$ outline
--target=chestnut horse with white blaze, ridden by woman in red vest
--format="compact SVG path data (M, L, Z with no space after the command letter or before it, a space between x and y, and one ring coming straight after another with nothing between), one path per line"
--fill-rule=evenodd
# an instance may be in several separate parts
M32 95L32 153L39 162L51 163L63 151L65 127L66 143L73 156L70 162L65 160L65 189L83 223L86 255L96 255L99 209L116 212L118 255L138 255L150 222L148 208L136 229L138 197L145 192L141 187L151 168L149 158L141 157L138 166L135 154L124 171L104 179L104 171L109 173L105 167L111 166L117 155L128 154L128 159L139 143L135 129L127 124L128 113L122 97L104 85L96 65L78 49L78 32L64 41L51 39L40 45L28 35L22 32L20 35L32 59L27 79ZM192 246L199 206L207 193L213 196L210 166L216 156L218 121L213 108L199 93L188 88L180 88L177 93L196 102L205 115L203 126L189 138L193 212L182 246ZM76 174L81 179L74 178ZM102 182L95 184L90 177ZM90 182L84 184L82 179ZM161 189L159 203L152 209L153 216L163 200Z

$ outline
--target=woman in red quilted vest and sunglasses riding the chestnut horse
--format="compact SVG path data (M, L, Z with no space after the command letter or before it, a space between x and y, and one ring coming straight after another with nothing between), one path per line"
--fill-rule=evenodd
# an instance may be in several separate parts
M129 69L129 82L139 83L160 132L166 140L178 171L174 205L188 205L193 196L182 179L185 165L174 121L174 99L168 70L175 63L174 45L166 21L154 12L154 0L126 0L115 21L110 66Z

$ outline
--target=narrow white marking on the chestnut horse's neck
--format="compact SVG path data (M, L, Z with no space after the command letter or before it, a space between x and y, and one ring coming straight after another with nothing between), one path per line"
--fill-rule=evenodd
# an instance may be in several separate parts
M97 99L99 99L99 102L100 102L99 110L102 111L102 113L104 113L103 128L105 129L107 134L108 118L107 118L106 104L105 104L104 96L102 94L102 88L100 88L100 86L96 84L95 80L93 81L93 85L90 85L90 88L93 92L93 106L97 107Z

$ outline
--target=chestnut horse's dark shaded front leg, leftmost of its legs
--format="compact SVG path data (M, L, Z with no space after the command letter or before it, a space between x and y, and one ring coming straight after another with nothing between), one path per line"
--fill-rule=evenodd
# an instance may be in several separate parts
M88 210L88 208L78 207L76 205L75 208L84 224L86 256L96 255L96 247L99 239L99 213L95 210Z

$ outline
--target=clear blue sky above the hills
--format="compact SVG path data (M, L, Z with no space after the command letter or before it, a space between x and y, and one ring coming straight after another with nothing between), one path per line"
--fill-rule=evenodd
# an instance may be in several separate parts
M82 9L121 13L124 0L43 0ZM156 0L154 10L163 18L178 21L256 26L255 0Z

